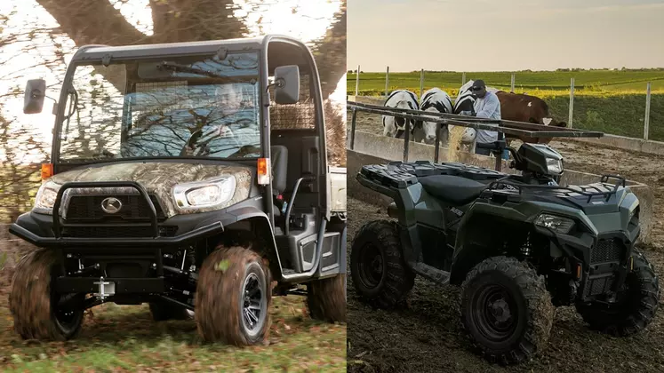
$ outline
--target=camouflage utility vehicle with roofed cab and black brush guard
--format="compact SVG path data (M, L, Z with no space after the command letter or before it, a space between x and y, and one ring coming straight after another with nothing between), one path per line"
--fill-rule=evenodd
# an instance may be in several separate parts
M44 106L28 82L24 112ZM205 340L262 342L273 295L345 321L346 171L328 164L308 48L287 36L84 46L53 107L52 157L10 232L25 338L67 339L84 310L148 303ZM306 284L306 290L300 287Z

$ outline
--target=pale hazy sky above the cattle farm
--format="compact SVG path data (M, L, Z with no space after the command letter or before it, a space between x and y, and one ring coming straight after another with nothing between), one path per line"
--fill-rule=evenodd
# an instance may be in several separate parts
M348 69L664 67L662 20L664 0L349 0Z

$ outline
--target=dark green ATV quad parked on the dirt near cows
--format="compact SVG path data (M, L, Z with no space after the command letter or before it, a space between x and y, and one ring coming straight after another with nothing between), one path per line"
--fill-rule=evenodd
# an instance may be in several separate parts
M614 336L643 330L660 284L635 248L639 202L625 179L563 187L554 149L508 150L520 175L460 163L365 165L358 181L394 200L388 215L397 221L356 234L356 293L390 308L418 274L460 285L464 329L485 358L504 364L547 345L555 306L576 306L592 329Z

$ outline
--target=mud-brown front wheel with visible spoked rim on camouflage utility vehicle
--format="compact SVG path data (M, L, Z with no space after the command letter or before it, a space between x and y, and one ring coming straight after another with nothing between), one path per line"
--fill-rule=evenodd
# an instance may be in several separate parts
M268 338L272 289L256 252L220 247L203 262L196 285L196 328L207 342L256 345Z

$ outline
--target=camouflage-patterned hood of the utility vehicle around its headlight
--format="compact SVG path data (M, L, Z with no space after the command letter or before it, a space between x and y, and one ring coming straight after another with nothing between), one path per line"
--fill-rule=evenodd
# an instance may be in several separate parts
M217 179L224 176L236 178L236 190L233 197L223 204L196 209L180 210L173 198L173 187L182 183ZM252 187L252 171L246 167L192 164L192 163L114 163L88 167L81 170L67 171L54 175L50 181L58 186L72 181L133 181L146 189L148 194L155 194L164 209L167 218L174 215L190 214L224 209L249 198ZM66 207L72 195L81 194L138 194L133 187L95 187L71 188L65 191L60 207L60 216L66 217Z

